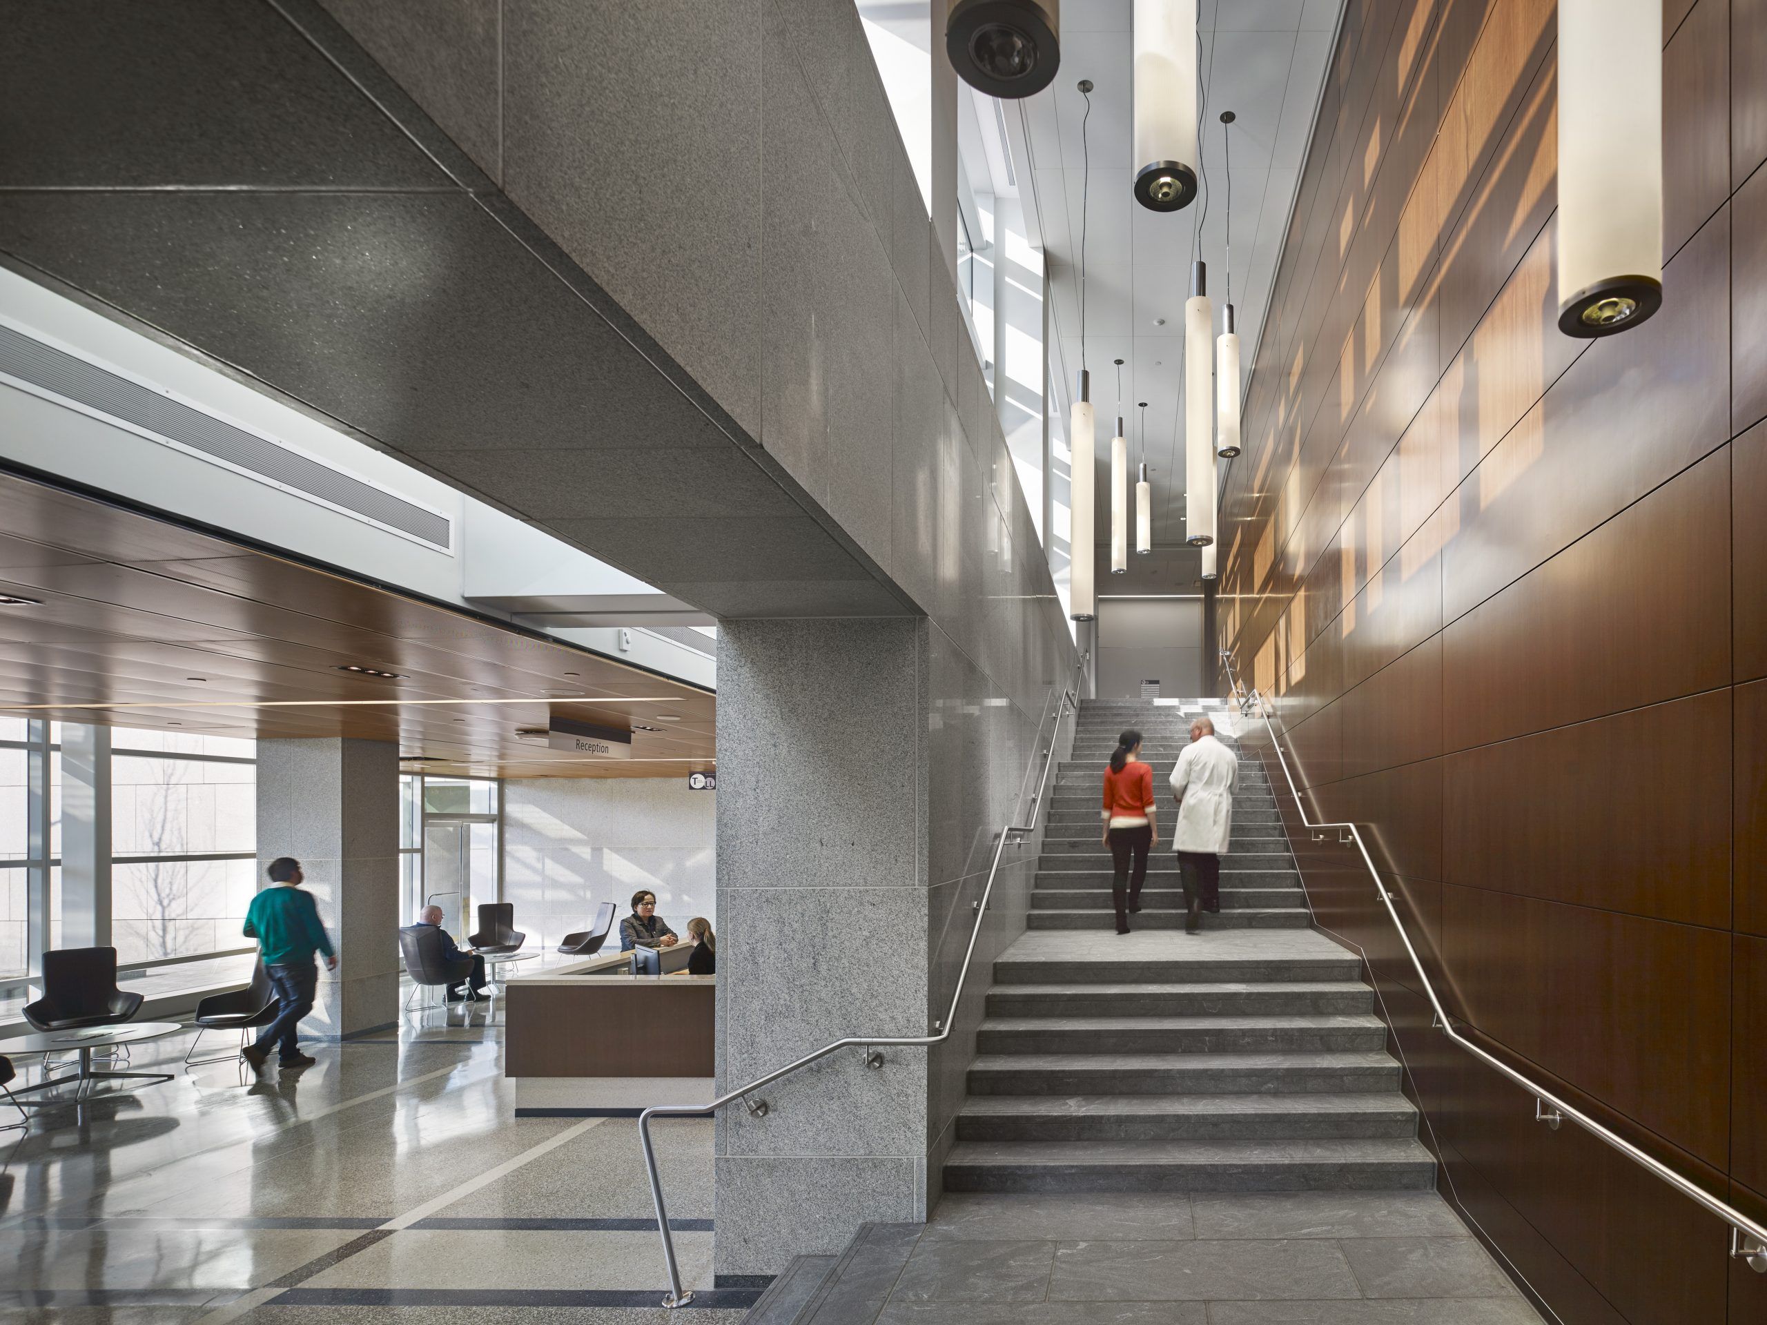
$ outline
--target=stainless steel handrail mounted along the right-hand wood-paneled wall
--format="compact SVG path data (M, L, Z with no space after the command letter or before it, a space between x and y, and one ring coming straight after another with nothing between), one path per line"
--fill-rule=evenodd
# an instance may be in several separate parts
M1239 691L1239 682L1233 678L1233 657L1228 650L1221 650L1221 661L1226 664L1228 685L1233 687L1235 694ZM1574 1122L1585 1132L1606 1141L1610 1147L1619 1150L1622 1155L1631 1159L1634 1164L1649 1170L1670 1187L1679 1191L1682 1196L1698 1201L1707 1210L1716 1214L1726 1224L1730 1224L1730 1254L1740 1256L1751 1270L1756 1274L1767 1274L1767 1224L1749 1219L1737 1207L1728 1201L1712 1196L1705 1187L1696 1182L1689 1182L1680 1173L1672 1170L1659 1159L1640 1150L1636 1145L1627 1141L1624 1136L1610 1127L1590 1118L1587 1113L1578 1109L1566 1099L1546 1090L1546 1086L1532 1081L1525 1074L1518 1072L1514 1067L1505 1064L1493 1053L1481 1049L1470 1039L1454 1030L1454 1023L1449 1019L1447 1009L1442 1007L1442 1000L1437 996L1435 984L1430 980L1430 972L1424 970L1422 958L1417 956L1417 949L1412 945L1412 936L1405 933L1405 920L1399 919L1398 906L1392 905L1392 894L1387 885L1380 882L1380 871L1375 869L1375 859L1368 853L1368 844L1362 841L1362 830L1355 823L1348 822L1315 822L1308 816L1306 802L1301 799L1301 791L1295 786L1295 777L1288 770L1288 756L1283 754L1283 744L1276 738L1276 723L1270 721L1270 708L1263 701L1263 694L1256 689L1244 691L1246 705L1256 708L1256 716L1263 721L1263 730L1270 737L1270 747L1276 751L1278 763L1283 765L1283 781L1288 783L1288 793L1295 799L1295 813L1301 814L1301 823L1313 834L1322 834L1323 830L1336 830L1338 841L1343 844L1355 843L1355 850L1362 853L1362 864L1368 866L1369 878L1375 880L1375 896L1380 897L1382 905L1387 908L1387 915L1392 917L1392 928L1399 931L1399 942L1405 943L1405 952L1412 959L1412 966L1417 970L1417 979L1422 982L1424 993L1430 996L1430 1007L1435 1012L1435 1028L1444 1032L1451 1041L1463 1048L1472 1056L1484 1064L1490 1064L1498 1072L1507 1076L1518 1086L1534 1095L1534 1118L1544 1122L1553 1131L1558 1131L1558 1124L1566 1118ZM1244 712L1244 710L1242 710ZM1345 837L1348 834L1348 837Z

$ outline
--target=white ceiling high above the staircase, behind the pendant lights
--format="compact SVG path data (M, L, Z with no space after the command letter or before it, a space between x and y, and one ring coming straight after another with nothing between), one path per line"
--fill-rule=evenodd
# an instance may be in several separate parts
M1209 263L1209 297L1221 330L1226 297L1226 170L1219 113L1232 110L1233 306L1239 316L1246 371L1263 323L1283 230L1306 155L1341 0L1200 0L1203 108L1203 189L1182 212L1157 214L1131 196L1134 163L1129 127L1133 106L1131 0L1067 0L1062 5L1062 69L1055 83L1016 102L1028 140L1030 187L1020 200L1048 254L1051 300L1051 362L1060 417L1080 369L1080 125L1085 99L1076 90L1090 78L1090 196L1087 203L1087 336L1092 403L1099 419L1096 528L1108 539L1110 488L1103 442L1117 413L1117 369L1122 366L1122 412L1129 428L1129 461L1141 459L1134 406L1147 408L1147 463L1154 484L1154 544L1182 542L1184 456L1180 367L1184 300L1196 223ZM1009 102L1011 104L1011 102ZM1018 125L1012 125L1018 129ZM1018 136L1016 132L1012 134ZM1016 147L1016 145L1014 145ZM1164 325L1156 325L1164 318Z

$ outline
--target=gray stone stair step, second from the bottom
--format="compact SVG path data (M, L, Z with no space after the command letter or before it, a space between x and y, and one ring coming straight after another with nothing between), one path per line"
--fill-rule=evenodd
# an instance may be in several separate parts
M959 1141L1292 1141L1412 1138L1405 1095L988 1095L958 1109Z

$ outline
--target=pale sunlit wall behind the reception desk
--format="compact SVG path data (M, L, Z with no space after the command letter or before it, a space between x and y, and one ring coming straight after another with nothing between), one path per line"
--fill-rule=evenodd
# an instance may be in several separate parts
M528 777L504 783L504 901L530 943L587 929L595 906L618 915L633 892L657 894L679 935L703 915L717 929L716 791L687 777Z

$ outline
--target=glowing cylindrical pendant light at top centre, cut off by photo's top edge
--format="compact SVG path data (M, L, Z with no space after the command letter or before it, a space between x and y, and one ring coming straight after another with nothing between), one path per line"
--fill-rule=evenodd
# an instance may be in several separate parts
M1196 196L1196 0L1134 0L1134 200Z

